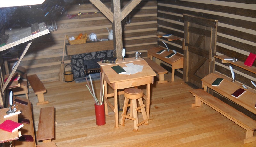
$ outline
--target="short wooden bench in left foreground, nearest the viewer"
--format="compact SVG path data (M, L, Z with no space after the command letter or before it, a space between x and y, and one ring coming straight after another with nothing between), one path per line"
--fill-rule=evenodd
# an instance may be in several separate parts
M55 108L41 108L36 139L43 143L51 142L55 136Z

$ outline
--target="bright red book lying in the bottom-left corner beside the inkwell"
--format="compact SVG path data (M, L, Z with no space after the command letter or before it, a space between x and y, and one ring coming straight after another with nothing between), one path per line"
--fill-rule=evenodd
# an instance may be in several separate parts
M18 122L14 122L12 120L5 120L3 123L0 124L0 129L8 132L15 132L24 125Z

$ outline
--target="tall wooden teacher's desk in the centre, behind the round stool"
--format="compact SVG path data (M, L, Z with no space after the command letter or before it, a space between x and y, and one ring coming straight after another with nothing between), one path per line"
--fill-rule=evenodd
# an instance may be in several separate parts
M142 72L133 74L133 75L122 75L117 74L111 67L120 65L124 67L127 63L133 63L138 65L143 65ZM146 99L146 112L149 119L149 106L150 106L150 84L154 82L154 76L156 73L152 68L147 64L142 58L125 58L124 61L118 60L116 64L107 64L98 62L101 68L101 72L104 73L104 104L105 104L105 114L108 115L108 106L115 113L115 127L118 127L118 107L117 107L117 96L124 94L124 91L117 92L118 89L126 89L130 87L136 87L140 85L147 85L146 95L143 95L143 98ZM126 67L126 66L125 66ZM113 93L107 92L107 83L113 89ZM114 97L114 105L112 105L108 97ZM148 122L146 122L148 124Z

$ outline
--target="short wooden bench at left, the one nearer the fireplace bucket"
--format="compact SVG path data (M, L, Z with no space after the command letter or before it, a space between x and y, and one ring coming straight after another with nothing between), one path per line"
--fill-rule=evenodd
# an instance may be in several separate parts
M44 101L44 93L46 93L47 90L45 89L43 83L40 81L38 76L36 74L29 75L29 76L27 76L27 79L28 79L32 89L34 90L35 94L38 97L38 103L36 103L36 104L39 105L39 104L49 103L48 101Z

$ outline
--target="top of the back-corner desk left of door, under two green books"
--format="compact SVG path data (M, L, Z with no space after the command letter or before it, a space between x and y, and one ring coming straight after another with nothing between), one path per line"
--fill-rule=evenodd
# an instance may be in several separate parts
M180 59L183 59L183 55L179 54L179 53L176 53L173 57L171 58L165 58L166 56L168 56L169 54L173 53L172 50L169 50L169 52L164 51L163 53L161 54L156 54L158 51L162 50L162 49L165 49L163 47L154 47L154 48L151 48L148 50L148 54L151 55L151 56L154 56L166 63L169 63L169 64L173 64L174 62L180 60Z

